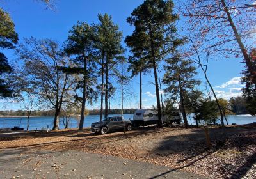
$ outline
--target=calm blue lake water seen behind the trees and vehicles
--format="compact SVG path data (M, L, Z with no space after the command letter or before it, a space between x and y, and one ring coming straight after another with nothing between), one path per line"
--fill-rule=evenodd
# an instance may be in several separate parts
M118 116L118 114L113 114L109 116ZM125 120L132 119L133 114L124 114ZM90 115L86 116L84 120L84 127L89 127L91 123L99 121L99 115ZM189 118L188 118L189 120ZM247 124L256 122L256 117L251 115L230 115L227 116L228 124L236 123L236 124ZM51 129L53 127L54 117L31 117L29 120L29 130L37 129L46 129L47 125ZM192 123L194 124L193 120ZM220 123L220 122L218 122ZM190 120L189 120L190 124ZM14 126L27 127L27 119L26 117L3 117L0 118L0 128L12 128ZM77 128L77 120L72 118L69 123L70 128ZM63 129L63 118L60 118L60 129Z

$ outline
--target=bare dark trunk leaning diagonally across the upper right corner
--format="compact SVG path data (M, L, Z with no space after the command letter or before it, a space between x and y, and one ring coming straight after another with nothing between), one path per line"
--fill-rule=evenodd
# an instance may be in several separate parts
M244 61L246 63L246 66L248 68L248 71L249 71L250 75L252 76L252 82L253 82L253 84L255 85L255 88L256 88L256 78L254 77L255 76L255 72L253 70L252 62L250 61L250 56L248 55L248 53L247 53L247 51L246 51L246 49L244 47L244 44L243 44L243 42L241 40L241 36L239 35L239 33L238 33L237 29L236 29L236 25L234 24L233 19L232 19L231 15L230 15L230 12L228 11L228 8L227 8L225 0L221 0L221 4L222 4L222 6L224 8L225 13L227 14L228 22L229 22L230 26L232 27L232 30L234 31L234 35L236 37L237 43L238 43L238 45L239 45L239 47L240 47L240 49L241 49L241 51L243 53Z

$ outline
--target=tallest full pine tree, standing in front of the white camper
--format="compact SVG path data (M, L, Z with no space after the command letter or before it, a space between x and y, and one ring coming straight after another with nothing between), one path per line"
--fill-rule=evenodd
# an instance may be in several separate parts
M148 64L154 70L154 83L156 86L158 126L162 127L161 102L159 97L159 82L157 77L157 63L164 54L173 51L181 42L175 38L174 22L178 16L173 14L173 2L163 0L146 0L138 6L127 18L127 22L135 27L131 35L129 46L138 47L136 39L143 40L143 51L147 56ZM168 49L168 51L165 51ZM139 51L140 52L140 51Z

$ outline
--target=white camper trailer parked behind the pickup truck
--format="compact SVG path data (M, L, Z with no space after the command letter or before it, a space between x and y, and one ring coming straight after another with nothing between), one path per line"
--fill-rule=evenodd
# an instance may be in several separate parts
M137 109L133 115L135 126L157 124L157 112L152 109ZM173 111L172 116L162 116L162 123L180 123L179 110Z

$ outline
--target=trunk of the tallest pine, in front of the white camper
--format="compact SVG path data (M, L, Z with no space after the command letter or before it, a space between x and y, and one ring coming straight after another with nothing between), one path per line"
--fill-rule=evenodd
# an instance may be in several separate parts
M152 65L154 68L154 78L155 78L155 87L156 87L156 102L157 102L157 114L158 114L157 126L163 127L161 103L160 103L160 97L159 97L159 86L158 86L157 70L156 70L156 56L155 56L153 36L152 36L151 30L150 30L150 38L151 38L150 45L151 45L151 53L152 53Z

